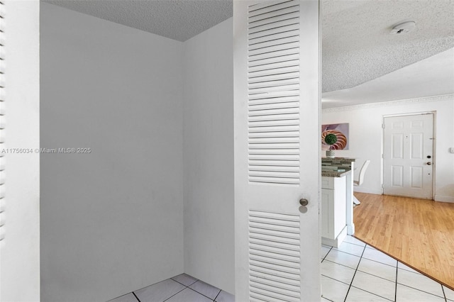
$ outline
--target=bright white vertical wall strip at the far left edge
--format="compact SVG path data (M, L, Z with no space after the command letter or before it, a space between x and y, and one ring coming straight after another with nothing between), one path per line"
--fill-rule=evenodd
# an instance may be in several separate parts
M39 1L4 1L6 140L0 150L40 146ZM3 21L2 21L3 22ZM3 89L1 89L3 90ZM3 92L3 91L2 91ZM3 130L2 130L3 131ZM6 154L0 301L40 298L40 155Z

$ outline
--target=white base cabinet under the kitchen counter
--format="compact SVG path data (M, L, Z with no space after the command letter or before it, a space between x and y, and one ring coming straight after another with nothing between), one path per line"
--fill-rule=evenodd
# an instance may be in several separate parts
M321 177L321 237L335 240L332 243L338 246L345 237L339 236L346 233L345 225L345 177Z

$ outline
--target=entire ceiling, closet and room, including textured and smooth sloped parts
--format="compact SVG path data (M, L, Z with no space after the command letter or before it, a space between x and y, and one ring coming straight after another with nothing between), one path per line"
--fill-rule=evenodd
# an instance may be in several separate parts
M232 16L232 0L42 1L179 41ZM321 3L323 108L454 93L453 0Z

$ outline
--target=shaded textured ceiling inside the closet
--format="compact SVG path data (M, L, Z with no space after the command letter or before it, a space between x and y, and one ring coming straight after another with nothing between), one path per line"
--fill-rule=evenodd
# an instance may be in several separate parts
M42 0L185 41L232 16L230 0Z

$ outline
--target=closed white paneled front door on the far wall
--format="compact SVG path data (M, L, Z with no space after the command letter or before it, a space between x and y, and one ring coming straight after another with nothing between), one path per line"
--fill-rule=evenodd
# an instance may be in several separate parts
M433 114L384 118L383 192L432 199Z

